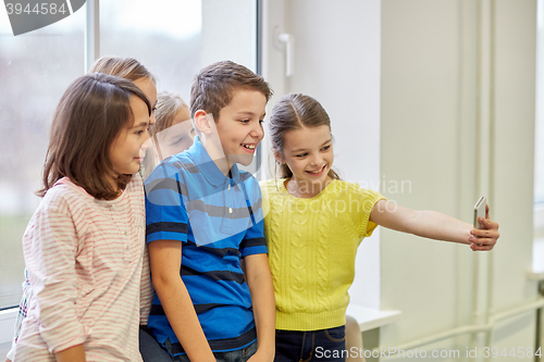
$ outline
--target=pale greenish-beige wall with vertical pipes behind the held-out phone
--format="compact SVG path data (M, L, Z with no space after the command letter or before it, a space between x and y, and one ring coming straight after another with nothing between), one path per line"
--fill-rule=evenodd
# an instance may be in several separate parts
M485 324L486 315L536 299L526 277L535 15L532 0L382 1L382 172L412 182L412 195L397 197L403 204L466 221L477 198L487 196L502 233L496 250L483 255L383 232L382 308L404 313L381 330L384 346ZM534 312L494 332L491 346L534 347ZM474 342L483 346L480 337ZM440 346L465 350L468 342Z

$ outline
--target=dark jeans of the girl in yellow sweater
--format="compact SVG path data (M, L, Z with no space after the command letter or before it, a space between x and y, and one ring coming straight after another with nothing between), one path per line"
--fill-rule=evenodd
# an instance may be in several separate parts
M275 332L275 362L344 362L346 357L345 326L309 332Z

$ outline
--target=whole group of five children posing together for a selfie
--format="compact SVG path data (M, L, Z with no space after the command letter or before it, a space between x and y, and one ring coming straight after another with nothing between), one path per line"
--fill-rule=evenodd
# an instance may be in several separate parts
M489 215L473 229L341 180L330 118L305 95L274 105L282 175L259 185L237 164L264 137L271 95L228 61L200 71L188 107L157 95L132 59L100 59L69 87L23 237L29 287L9 360L318 361L318 347L345 355L355 255L378 225L493 249ZM349 211L332 210L337 200Z

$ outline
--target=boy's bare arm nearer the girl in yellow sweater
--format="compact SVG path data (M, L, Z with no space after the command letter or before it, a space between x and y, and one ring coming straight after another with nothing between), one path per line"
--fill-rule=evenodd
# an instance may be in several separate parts
M273 361L275 354L275 300L265 253L244 258L246 282L251 292L251 301L257 328L257 353L249 361Z

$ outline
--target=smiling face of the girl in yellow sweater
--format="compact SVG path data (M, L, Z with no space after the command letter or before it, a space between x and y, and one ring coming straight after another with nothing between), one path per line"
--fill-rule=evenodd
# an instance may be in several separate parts
M287 163L298 188L314 186L312 184L324 187L334 161L331 128L323 125L287 132L283 155L276 152L275 157L281 163Z

